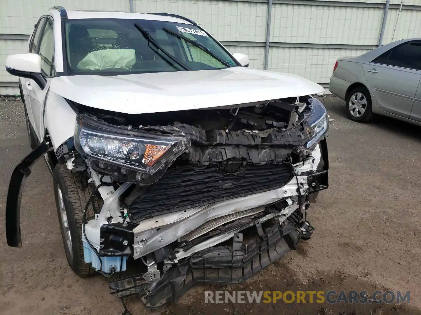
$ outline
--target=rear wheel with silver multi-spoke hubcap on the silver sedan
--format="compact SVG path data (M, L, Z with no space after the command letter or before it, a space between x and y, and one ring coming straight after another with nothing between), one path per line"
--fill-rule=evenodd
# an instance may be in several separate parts
M357 95L361 95L360 99L357 99ZM354 99L354 97L356 98ZM353 113L351 113L351 108L353 107L352 105L356 104L355 100L361 101L361 104L358 103L360 109L358 107L354 107L352 110ZM365 104L362 104L364 101ZM346 95L346 115L353 121L357 121L359 123L367 123L373 119L373 109L371 104L371 96L370 92L368 92L368 89L366 87L356 87L355 89L352 89L348 95ZM361 112L361 108L364 110L364 113Z

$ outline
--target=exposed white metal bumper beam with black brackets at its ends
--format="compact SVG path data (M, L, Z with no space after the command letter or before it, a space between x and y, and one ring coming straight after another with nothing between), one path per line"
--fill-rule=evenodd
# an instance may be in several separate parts
M181 259L202 249L203 246L212 246L213 243L230 239L238 232L238 229L233 228L232 231L226 231L223 236L217 235L214 239L207 239L204 245L196 244L197 239L214 228L259 213L268 215L265 220L278 216L279 220L283 221L299 208L298 197L307 196L310 189L312 192L317 192L327 186L327 171L311 171L308 174L294 176L288 184L278 189L159 215L142 220L136 226L133 223L104 224L101 226L99 253L104 256L110 253L113 256L130 255L137 259L174 241L179 241L182 246L176 258ZM282 200L288 200L286 207L277 205ZM86 224L87 228L88 226L89 222ZM117 233L118 238L114 237ZM126 246L123 244L124 240L131 239L134 240L134 244ZM187 247L188 251L185 249ZM118 252L116 248L119 249Z

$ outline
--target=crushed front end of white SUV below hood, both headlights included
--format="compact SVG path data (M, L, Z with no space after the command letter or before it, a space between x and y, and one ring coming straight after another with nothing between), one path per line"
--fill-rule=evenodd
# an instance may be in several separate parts
M328 188L317 99L141 115L72 106L75 137L57 157L104 200L83 227L85 262L146 266L110 282L115 296L160 307L196 282L239 283L311 237L309 203Z

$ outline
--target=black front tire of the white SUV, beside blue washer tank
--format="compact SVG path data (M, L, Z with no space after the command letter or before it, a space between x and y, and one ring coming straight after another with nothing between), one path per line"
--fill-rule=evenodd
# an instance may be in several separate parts
M70 268L80 277L86 277L95 270L85 262L83 257L82 223L83 209L91 196L93 187L88 184L88 175L85 172L72 172L67 169L66 164L56 165L53 171L54 195L56 197L57 215L59 216L61 237L63 238L64 250ZM63 198L64 208L67 215L67 228L60 210L59 189ZM99 213L104 202L101 197L94 196L93 205L88 207L86 218L92 218L95 213ZM67 245L66 234L70 234L71 246ZM69 249L71 248L71 250Z

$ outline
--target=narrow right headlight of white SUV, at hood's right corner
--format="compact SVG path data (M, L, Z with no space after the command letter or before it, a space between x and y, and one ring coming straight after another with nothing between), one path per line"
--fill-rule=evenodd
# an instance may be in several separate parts
M310 101L312 102L313 108L306 118L311 131L311 139L305 144L307 149L317 144L329 129L328 114L326 113L325 106L316 98L312 98Z

